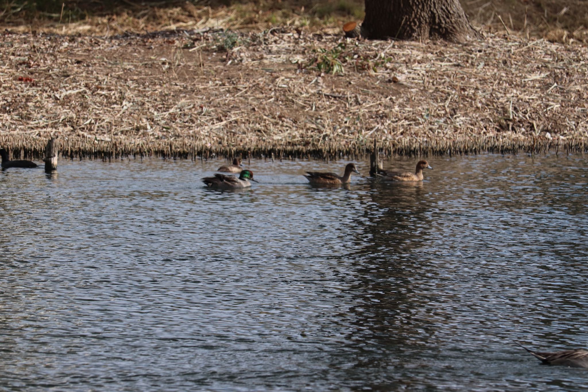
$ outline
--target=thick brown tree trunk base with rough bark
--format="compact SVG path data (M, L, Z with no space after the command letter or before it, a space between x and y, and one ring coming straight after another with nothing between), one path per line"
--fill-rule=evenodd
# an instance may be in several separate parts
M479 34L459 0L365 0L362 27L370 39L445 39L463 42Z

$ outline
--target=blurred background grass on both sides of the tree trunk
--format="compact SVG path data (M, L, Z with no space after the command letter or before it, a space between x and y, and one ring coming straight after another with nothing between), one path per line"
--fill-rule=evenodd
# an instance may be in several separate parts
M0 0L0 26L12 31L108 36L203 27L263 31L273 26L340 29L363 19L363 0L159 1ZM586 0L462 0L470 20L491 32L588 43Z

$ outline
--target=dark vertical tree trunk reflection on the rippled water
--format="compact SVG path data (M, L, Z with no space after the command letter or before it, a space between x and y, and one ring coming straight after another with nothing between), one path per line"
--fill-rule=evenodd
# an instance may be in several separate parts
M409 256L420 252L423 241L434 235L425 214L431 208L426 186L375 180L367 196L363 222L370 242L354 255L361 263L356 270L359 280L352 286L356 305L350 309L356 328L348 336L361 347L355 367L370 372L412 364L419 367L423 364L419 346L436 345L435 324L419 316L427 298L418 295L414 280L419 265ZM388 353L384 360L383 351ZM390 384L368 386L386 390Z

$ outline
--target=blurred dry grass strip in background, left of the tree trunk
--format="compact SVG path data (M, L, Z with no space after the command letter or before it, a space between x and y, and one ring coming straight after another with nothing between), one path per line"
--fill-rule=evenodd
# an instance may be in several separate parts
M61 4L61 3L59 3ZM91 7L99 2L90 3ZM363 2L358 0L315 1L246 1L230 5L205 2L158 2L133 5L122 2L113 5L108 12L100 9L64 8L47 13L19 11L14 3L5 5L4 24L16 32L38 31L72 35L109 36L120 33L145 33L173 29L247 29L263 31L273 26L293 26L316 31L322 28L338 28L343 22L363 18ZM72 16L73 15L73 16ZM2 13L0 12L0 17Z

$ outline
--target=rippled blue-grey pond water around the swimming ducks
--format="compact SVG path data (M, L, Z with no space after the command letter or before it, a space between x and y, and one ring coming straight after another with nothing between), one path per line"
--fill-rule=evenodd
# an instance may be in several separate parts
M206 189L221 163L0 173L2 390L588 386L513 343L588 346L586 158L433 158L423 183L338 188L302 173L346 162L256 160L252 189Z

